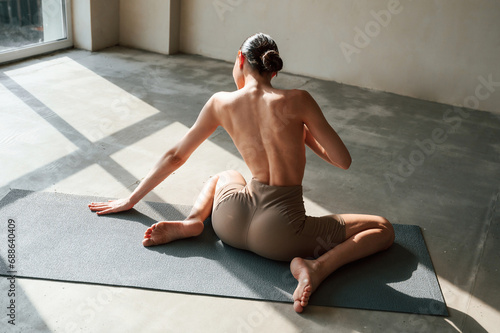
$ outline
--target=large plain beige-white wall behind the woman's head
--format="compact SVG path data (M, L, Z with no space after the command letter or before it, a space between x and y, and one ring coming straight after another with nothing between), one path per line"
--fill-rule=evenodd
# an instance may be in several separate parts
M180 23L182 52L234 61L262 31L287 72L500 113L498 1L183 0Z

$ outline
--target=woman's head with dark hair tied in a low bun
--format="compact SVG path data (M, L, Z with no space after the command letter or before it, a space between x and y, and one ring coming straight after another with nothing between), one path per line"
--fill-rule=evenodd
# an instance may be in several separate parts
M240 47L250 66L262 73L278 73L283 68L278 46L271 36L257 33L248 37Z

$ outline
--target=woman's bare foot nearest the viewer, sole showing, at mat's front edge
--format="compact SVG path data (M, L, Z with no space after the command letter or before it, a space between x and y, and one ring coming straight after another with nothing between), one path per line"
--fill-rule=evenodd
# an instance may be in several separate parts
M315 260L294 258L290 263L290 271L299 282L293 293L293 309L295 312L304 311L309 303L309 297L323 281L318 273L318 264Z

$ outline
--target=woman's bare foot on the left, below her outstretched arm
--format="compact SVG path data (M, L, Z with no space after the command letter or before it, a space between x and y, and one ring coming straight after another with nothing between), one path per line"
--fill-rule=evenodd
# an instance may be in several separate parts
M202 221L162 221L153 224L146 230L142 245L153 246L166 244L177 239L198 236L202 231Z

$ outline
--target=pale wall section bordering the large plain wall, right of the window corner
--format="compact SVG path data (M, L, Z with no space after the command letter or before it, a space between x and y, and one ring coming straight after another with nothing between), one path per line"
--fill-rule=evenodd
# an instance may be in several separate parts
M178 11L178 0L120 0L120 45L175 53L178 31L171 29L178 25Z

